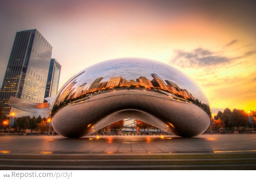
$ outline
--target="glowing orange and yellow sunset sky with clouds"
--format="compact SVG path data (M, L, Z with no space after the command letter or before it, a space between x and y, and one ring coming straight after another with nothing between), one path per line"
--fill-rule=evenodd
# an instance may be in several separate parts
M60 86L97 62L139 57L180 69L218 110L256 109L256 1L0 0L0 84L16 32L37 29Z

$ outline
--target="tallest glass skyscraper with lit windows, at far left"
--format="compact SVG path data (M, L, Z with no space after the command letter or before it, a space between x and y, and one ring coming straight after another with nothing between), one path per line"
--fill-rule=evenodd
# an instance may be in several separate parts
M0 92L0 106L5 114L10 112L10 96L44 101L51 56L52 46L38 30L16 33Z

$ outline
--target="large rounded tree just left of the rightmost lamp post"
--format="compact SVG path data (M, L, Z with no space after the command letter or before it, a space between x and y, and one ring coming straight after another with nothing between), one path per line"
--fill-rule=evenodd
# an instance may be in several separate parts
M243 109L233 109L230 113L229 125L237 127L244 127L247 125L248 115Z

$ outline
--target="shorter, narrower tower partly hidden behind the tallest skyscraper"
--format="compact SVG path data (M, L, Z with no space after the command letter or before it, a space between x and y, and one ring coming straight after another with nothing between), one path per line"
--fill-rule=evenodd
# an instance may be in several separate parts
M60 78L61 65L59 62L52 58L46 83L46 89L44 98L53 97L57 94L59 88L59 78Z

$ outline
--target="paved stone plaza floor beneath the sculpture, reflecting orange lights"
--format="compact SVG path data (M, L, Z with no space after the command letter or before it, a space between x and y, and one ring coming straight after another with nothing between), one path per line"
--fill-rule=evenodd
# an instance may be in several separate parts
M193 138L169 136L0 136L1 153L145 154L256 151L256 134L205 134Z

